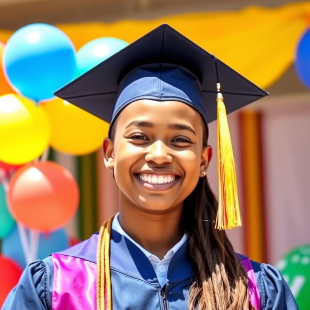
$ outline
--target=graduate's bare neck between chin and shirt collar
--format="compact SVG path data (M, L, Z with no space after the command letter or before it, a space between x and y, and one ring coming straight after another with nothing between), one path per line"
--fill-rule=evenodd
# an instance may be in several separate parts
M183 236L182 205L155 213L139 209L120 199L119 222L122 229L140 246L162 259Z

